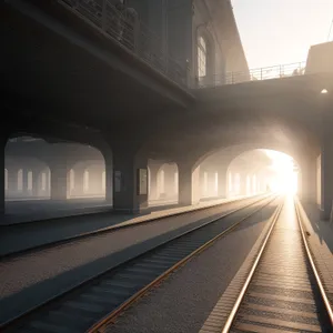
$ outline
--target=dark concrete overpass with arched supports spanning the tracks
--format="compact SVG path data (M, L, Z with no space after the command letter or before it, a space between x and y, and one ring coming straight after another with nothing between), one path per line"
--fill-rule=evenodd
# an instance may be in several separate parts
M135 6L1 3L3 147L8 138L24 133L95 147L105 161L107 200L132 211L147 205L147 189L137 192L135 170L147 170L149 159L178 164L180 202L191 204L198 167L219 151L241 153L250 145L291 154L311 200L319 188L320 157L327 216L332 74L309 72L304 63L239 70L230 53L221 75L216 64L199 78L191 58L170 56L163 40L138 20ZM63 170L58 164L54 169ZM113 189L113 170L121 174L119 191L108 190Z

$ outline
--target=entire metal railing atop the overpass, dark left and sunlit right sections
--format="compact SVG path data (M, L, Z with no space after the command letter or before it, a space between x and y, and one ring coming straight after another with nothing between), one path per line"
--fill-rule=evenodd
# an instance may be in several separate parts
M164 41L139 20L134 9L110 0L58 0L85 18L102 33L129 50L160 73L183 88L210 88L249 81L269 80L304 74L305 62L260 68L244 72L190 78L186 61L182 63L167 53ZM191 81L191 82L190 82Z

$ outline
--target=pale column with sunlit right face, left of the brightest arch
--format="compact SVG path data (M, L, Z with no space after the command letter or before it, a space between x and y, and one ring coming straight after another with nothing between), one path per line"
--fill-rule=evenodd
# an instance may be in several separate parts
M179 163L179 203L192 205L200 201L200 167L192 170L192 164Z

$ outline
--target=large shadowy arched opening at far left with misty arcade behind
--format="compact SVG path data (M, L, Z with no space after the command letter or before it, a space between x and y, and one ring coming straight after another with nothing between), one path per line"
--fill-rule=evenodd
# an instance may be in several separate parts
M17 135L7 141L4 167L4 210L16 222L31 219L32 211L33 219L44 219L111 204L104 201L105 162L93 147Z

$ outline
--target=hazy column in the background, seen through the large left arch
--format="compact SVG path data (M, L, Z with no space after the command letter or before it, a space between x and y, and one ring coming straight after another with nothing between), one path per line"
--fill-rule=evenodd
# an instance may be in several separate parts
M67 200L69 176L67 163L53 163L51 171L51 200Z

